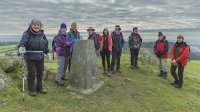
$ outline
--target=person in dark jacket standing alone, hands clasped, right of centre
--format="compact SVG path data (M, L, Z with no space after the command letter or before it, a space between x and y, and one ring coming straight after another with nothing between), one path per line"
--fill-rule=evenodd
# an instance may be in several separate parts
M131 52L131 66L132 68L138 67L138 54L142 44L142 38L138 34L138 28L134 27L133 32L129 36L129 47Z

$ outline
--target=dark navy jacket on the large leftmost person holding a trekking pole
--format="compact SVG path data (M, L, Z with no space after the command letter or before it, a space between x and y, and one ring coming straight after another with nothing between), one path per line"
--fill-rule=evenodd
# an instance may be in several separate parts
M43 51L43 53L25 53L25 60L41 60L44 58L44 53L49 52L48 40L44 32L42 30L35 32L30 27L24 32L19 43L20 46L24 46L26 51Z

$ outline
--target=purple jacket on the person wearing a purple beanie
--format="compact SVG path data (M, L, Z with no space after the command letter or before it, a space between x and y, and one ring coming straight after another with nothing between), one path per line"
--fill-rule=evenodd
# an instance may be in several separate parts
M69 56L72 52L71 39L60 32L56 35L56 54L58 56Z

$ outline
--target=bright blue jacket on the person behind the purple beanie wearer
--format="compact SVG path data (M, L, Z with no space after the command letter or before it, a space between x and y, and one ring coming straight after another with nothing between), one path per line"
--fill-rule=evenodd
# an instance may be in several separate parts
M73 30L70 30L67 33L67 37L71 39L72 42L72 46L74 45L74 43L80 39L80 33L77 31L76 34L74 33Z

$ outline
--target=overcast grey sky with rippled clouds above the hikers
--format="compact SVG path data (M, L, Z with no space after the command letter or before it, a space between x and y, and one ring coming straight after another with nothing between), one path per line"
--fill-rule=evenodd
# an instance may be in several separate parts
M33 18L42 20L46 33L62 22L77 22L80 31L116 24L122 30L198 28L200 0L1 0L0 34L22 34Z

